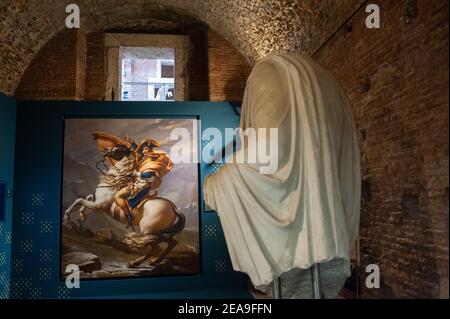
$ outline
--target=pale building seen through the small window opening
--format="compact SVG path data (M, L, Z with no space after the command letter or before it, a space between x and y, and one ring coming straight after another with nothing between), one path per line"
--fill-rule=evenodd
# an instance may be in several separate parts
M121 48L121 100L174 101L175 50Z

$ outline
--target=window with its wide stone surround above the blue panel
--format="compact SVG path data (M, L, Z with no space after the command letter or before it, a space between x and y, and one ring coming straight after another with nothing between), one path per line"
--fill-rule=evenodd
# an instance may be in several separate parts
M105 100L183 101L186 92L187 36L105 35Z

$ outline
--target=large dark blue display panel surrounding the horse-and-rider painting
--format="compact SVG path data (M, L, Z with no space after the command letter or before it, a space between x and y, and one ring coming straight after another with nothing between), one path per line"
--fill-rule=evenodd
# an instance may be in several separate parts
M202 129L237 127L228 103L19 102L17 111L12 298L249 298L246 276L234 272L216 213L200 213L202 272L194 276L59 281L60 193L64 117L198 117ZM204 147L206 143L202 143ZM200 178L217 165L200 165ZM202 201L201 201L202 202ZM41 225L51 225L41 231Z

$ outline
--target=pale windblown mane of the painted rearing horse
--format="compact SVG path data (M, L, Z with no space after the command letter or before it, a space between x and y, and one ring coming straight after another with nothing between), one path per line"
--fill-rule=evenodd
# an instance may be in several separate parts
M113 190L120 190L130 182L134 182L133 172L136 168L136 161L133 154L124 156L111 166L107 175L101 175L100 181L111 186Z

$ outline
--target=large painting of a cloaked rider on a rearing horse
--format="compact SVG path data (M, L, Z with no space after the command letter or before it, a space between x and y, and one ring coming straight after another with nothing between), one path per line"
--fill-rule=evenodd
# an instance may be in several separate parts
M82 279L199 273L197 125L179 117L64 120L62 279L73 269ZM174 146L191 160L175 160Z

